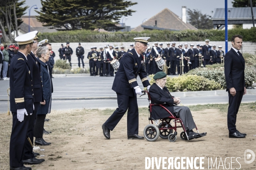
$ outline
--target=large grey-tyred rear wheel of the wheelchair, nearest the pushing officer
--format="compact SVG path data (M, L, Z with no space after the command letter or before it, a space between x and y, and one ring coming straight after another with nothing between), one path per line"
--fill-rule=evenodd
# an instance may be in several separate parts
M146 125L143 131L145 139L147 139L149 142L156 141L159 137L159 133L159 129L153 124Z

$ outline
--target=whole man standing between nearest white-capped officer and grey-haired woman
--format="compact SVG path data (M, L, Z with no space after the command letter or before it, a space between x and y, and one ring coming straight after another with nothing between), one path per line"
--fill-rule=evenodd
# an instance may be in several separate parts
M29 137L32 144L34 143L34 125L35 125L35 119L36 119L36 113L38 111L38 108L40 108L40 102L44 102L43 98L43 91L42 91L42 82L41 82L41 65L38 62L38 58L35 57L34 51L37 49L38 45L38 38L37 34L38 31L32 31L32 33L35 34L34 42L32 45L31 53L27 55L27 62L29 63L30 68L30 74L32 76L32 90L33 90L33 105L34 105L34 112L32 115L30 115L29 118L29 127L28 127L28 133L27 136ZM39 154L39 153L38 153ZM44 159L42 159L44 161ZM38 164L41 163L42 160L36 159L35 155L33 153L33 147L30 144L29 140L25 140L24 150L23 150L23 156L22 161L23 164Z

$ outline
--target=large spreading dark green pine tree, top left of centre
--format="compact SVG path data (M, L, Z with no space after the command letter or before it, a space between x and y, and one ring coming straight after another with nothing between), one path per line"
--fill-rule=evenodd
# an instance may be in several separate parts
M135 12L127 8L137 3L126 0L41 0L41 4L37 19L44 26L113 31L122 29L116 26L118 20Z

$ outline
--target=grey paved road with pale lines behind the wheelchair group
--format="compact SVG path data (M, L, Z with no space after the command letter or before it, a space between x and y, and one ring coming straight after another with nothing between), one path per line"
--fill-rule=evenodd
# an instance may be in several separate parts
M61 77L52 79L54 93L52 98L83 98L83 97L116 97L111 90L113 77ZM142 83L138 80L140 87ZM0 99L7 99L6 89L9 81L0 81ZM138 97L139 107L148 107L146 98ZM196 96L181 98L183 105L227 103L228 96ZM245 95L242 102L256 102L256 95ZM6 112L7 102L0 102L0 113ZM82 108L117 108L116 99L91 100L53 100L52 109L82 109Z

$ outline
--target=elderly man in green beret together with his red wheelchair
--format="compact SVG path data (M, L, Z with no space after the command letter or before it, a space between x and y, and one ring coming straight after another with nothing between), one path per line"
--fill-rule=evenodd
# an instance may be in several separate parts
M168 136L170 142L175 142L177 139L176 122L180 123L181 126L179 127L182 127L184 130L184 132L180 134L180 137L183 140L206 136L207 133L197 133L198 129L189 108L186 106L177 106L180 104L180 98L172 96L169 90L165 87L166 77L166 73L162 71L158 72L153 77L155 83L151 85L148 94L149 98L151 98L151 117L149 119L153 119L155 122L158 122L158 119L160 119L162 123L158 125L158 128L162 132L165 132L165 127L169 127L170 130L175 130L175 133L172 133L173 135ZM175 126L170 125L171 119L174 119ZM194 132L193 129L196 129L197 132ZM144 130L144 136L146 135L145 133L147 132ZM164 136L163 133L160 133L161 138Z

